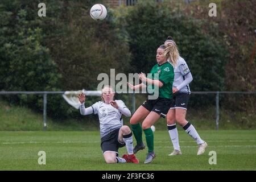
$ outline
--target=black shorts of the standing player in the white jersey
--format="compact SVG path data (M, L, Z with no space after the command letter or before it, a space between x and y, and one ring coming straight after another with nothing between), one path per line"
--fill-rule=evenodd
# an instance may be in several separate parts
M187 110L188 100L190 94L188 93L174 93L172 95L174 97L174 102L172 102L170 109L181 108Z

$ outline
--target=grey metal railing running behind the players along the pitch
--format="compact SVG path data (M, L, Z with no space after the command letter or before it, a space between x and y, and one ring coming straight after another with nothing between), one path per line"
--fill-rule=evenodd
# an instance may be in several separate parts
M10 94L41 94L43 95L43 123L44 127L43 130L47 130L47 94L64 94L65 91L1 91L0 95L10 95ZM86 90L84 92L87 96L101 96L98 91L90 91ZM220 119L220 94L256 94L256 92L232 92L232 91L208 91L208 92L191 92L191 94L216 94L215 97L215 104L216 104L216 111L215 111L215 122L216 122L216 130L219 127L219 119ZM135 92L133 92L132 97L132 113L135 112Z

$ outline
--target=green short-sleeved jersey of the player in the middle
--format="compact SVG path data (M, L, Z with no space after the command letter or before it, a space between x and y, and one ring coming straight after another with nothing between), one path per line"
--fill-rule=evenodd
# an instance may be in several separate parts
M163 86L159 88L160 98L172 98L172 83L174 82L174 67L169 62L162 65L156 64L150 71L148 78L159 80ZM156 74L158 73L158 74ZM148 92L154 93L154 85L148 85Z

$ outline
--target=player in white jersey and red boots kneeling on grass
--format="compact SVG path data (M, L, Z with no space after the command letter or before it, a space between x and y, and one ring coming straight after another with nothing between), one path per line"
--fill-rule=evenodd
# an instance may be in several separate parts
M121 100L113 100L114 92L110 86L102 89L102 101L85 108L85 94L77 96L82 115L98 114L100 120L101 150L106 163L139 163L133 153L133 134L130 127L124 125L122 114L131 116L131 111ZM118 148L126 146L128 155L118 157Z

